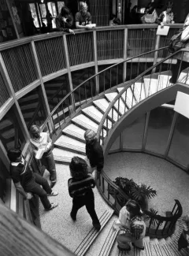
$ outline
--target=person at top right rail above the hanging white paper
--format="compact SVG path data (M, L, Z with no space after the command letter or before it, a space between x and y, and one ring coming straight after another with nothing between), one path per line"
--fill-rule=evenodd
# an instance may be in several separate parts
M174 13L172 13L173 2L167 2L166 10L160 14L156 23L161 24L161 28L164 27L164 24L175 23Z

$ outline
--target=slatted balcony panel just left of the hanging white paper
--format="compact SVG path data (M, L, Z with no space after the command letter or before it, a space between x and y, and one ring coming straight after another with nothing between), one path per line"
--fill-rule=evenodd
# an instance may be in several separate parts
M157 28L128 29L128 57L154 50ZM154 53L146 56L154 58Z

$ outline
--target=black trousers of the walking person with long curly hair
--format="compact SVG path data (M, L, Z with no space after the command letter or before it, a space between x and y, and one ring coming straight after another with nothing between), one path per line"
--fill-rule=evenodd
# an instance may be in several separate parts
M87 212L90 214L91 219L98 222L98 217L95 212L95 197L92 189L87 191L86 195L75 196L72 200L72 215L76 217L77 211L86 206Z

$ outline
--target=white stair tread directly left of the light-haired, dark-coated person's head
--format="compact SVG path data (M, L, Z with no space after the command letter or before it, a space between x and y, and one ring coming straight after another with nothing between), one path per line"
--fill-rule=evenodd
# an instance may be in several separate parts
M77 139L80 142L85 143L85 139L84 139L85 130L76 126L75 124L69 124L69 126L67 126L62 130L62 133L69 135L69 137L71 137L72 139Z

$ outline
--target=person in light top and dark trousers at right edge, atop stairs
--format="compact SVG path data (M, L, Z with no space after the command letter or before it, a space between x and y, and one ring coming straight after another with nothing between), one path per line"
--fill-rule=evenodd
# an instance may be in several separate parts
M183 32L180 37L180 41L183 43L184 48L189 49L189 14L183 24ZM179 53L174 56L177 59L176 65L172 65L172 77L170 78L170 83L176 83L176 80L180 76L180 72L183 69L189 67L189 52Z

